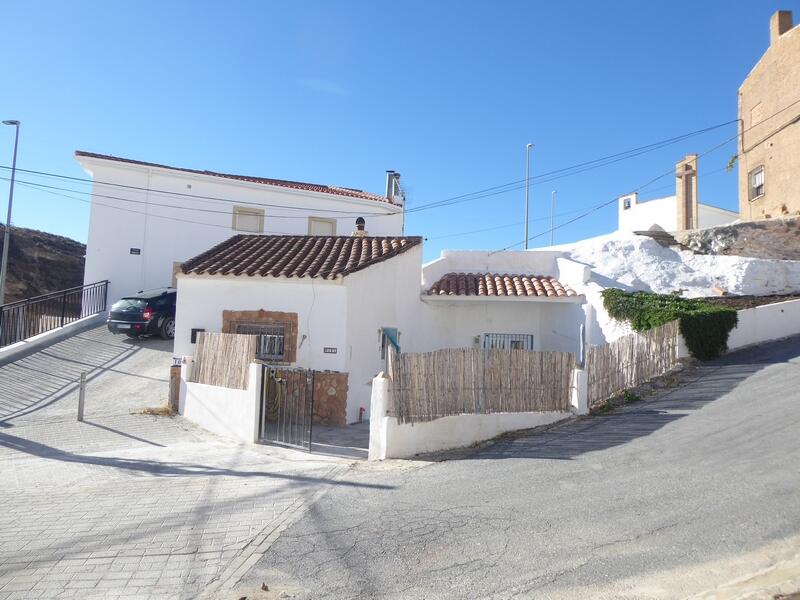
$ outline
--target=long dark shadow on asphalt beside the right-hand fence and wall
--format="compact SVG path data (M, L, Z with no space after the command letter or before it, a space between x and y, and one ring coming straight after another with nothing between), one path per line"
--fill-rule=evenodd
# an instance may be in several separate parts
M800 358L800 338L741 350L701 363L685 373L685 380L652 401L634 404L603 416L592 416L544 432L520 432L462 459L544 458L569 460L587 452L605 450L650 435L692 411L734 390L769 365Z

